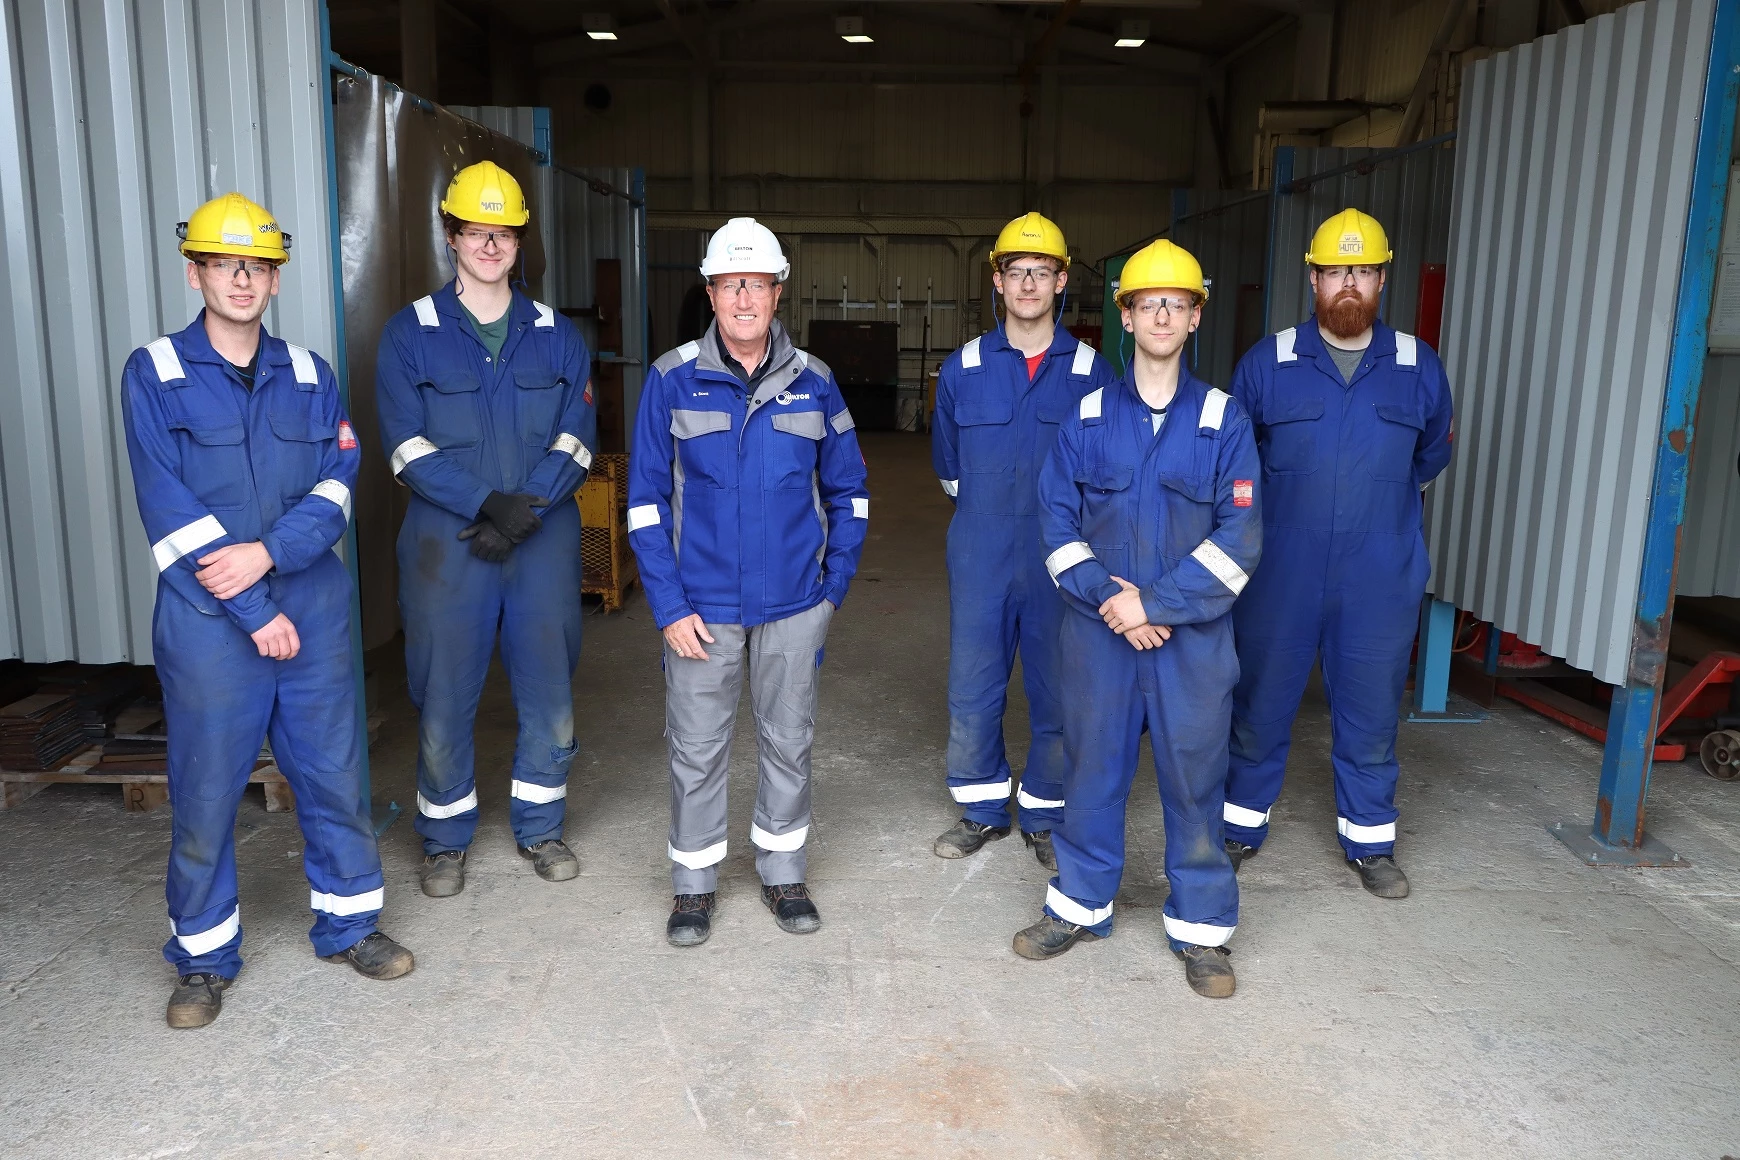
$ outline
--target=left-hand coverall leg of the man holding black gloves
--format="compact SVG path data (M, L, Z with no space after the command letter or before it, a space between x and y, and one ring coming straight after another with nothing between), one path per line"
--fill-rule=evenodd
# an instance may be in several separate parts
M501 623L503 565L456 539L466 520L412 496L398 530L405 685L418 708L423 852L463 850L477 833L477 703ZM522 544L524 546L524 544Z

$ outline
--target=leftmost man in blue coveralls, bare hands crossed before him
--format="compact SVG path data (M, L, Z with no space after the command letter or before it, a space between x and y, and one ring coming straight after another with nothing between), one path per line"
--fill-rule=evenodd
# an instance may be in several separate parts
M291 235L228 193L181 223L205 310L122 372L132 483L151 555L151 650L169 727L167 1019L218 1017L242 969L235 812L259 746L296 793L315 953L397 979L411 951L376 930L385 889L362 795L350 523L357 437L332 367L266 334Z

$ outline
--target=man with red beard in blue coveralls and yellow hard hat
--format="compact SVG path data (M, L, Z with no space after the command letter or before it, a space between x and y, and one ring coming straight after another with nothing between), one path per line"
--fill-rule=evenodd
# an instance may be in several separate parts
M1312 318L1253 346L1232 376L1263 461L1263 563L1232 617L1239 683L1227 852L1268 837L1312 664L1329 701L1336 830L1361 883L1408 897L1395 864L1395 720L1430 572L1420 492L1449 463L1437 353L1378 322L1389 238L1347 209L1305 263Z

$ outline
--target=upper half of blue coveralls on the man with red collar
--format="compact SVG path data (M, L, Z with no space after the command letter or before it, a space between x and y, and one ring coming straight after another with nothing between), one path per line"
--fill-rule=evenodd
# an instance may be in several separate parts
M1030 517L1039 471L1063 421L1088 391L1115 383L1100 351L1058 327L1039 372L1002 329L943 360L931 416L931 464L964 515Z

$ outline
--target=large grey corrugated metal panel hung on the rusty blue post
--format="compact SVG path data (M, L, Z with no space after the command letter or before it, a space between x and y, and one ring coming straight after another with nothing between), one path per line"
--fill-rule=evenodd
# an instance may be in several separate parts
M1476 64L1432 591L1625 680L1714 0L1648 0Z

